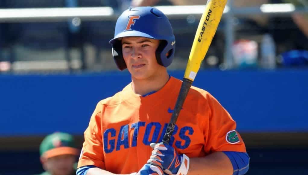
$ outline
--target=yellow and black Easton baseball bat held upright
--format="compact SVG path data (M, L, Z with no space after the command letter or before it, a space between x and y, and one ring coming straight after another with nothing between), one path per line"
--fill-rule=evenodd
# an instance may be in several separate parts
M208 0L206 3L205 11L201 16L196 35L193 40L193 46L189 54L180 92L173 109L171 120L168 123L163 137L163 142L166 144L169 143L172 132L174 131L176 120L180 114L188 91L196 78L197 72L199 71L201 62L204 59L206 52L209 50L209 46L216 33L226 3L227 0Z

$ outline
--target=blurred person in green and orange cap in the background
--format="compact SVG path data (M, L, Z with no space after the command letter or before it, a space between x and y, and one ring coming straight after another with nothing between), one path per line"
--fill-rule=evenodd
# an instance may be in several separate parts
M41 175L75 174L74 164L80 150L75 148L73 136L64 132L52 133L44 138L39 149L46 170Z

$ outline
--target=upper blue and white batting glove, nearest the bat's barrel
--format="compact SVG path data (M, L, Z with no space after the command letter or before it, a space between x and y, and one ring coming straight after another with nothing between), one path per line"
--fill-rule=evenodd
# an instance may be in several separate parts
M189 168L189 158L183 154L179 155L176 150L163 142L151 143L154 149L152 156L148 160L149 164L158 165L164 169L165 173L186 175Z

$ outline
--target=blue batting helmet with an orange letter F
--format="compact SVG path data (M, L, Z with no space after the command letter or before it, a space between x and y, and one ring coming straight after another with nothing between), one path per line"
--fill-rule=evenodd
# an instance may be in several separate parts
M167 16L155 7L130 8L118 18L114 38L109 43L112 44L113 59L121 71L127 66L123 59L120 38L127 36L159 39L160 45L156 50L157 62L164 67L172 63L175 51L173 29Z

